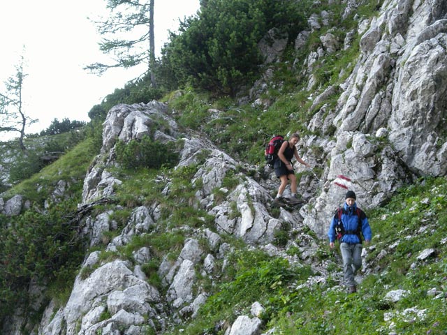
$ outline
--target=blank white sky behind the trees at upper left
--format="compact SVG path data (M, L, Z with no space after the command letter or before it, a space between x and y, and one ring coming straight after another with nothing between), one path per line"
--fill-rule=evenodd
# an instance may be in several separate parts
M89 121L88 112L116 88L144 72L140 69L110 69L101 77L82 68L107 62L99 51L101 36L87 17L105 16L106 0L1 0L0 90L15 74L14 66L24 54L28 76L24 80L24 111L37 124L27 133L50 126L53 119ZM196 14L199 0L155 0L155 47L159 54L175 31L179 18ZM23 46L25 46L24 52ZM109 61L112 63L112 61ZM17 135L17 134L15 134ZM0 140L7 140L0 133Z

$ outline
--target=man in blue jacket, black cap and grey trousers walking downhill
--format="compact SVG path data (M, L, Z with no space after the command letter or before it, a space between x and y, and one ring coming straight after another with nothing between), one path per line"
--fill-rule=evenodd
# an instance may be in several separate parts
M329 246L334 248L335 239L340 241L340 251L343 258L344 281L349 292L357 292L354 276L362 267L362 235L365 244L372 238L371 228L365 212L357 207L356 193L346 192L346 202L342 209L338 209L332 217L328 237ZM339 224L341 221L342 225Z

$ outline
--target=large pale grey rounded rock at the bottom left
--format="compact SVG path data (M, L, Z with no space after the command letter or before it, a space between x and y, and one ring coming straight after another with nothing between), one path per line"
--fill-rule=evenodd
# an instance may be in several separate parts
M94 267L96 262L98 257L92 253L82 268ZM65 308L47 320L41 334L96 334L98 329L141 328L147 325L145 317L154 318L160 313L155 308L159 301L155 288L135 276L129 264L115 260L101 265L87 278L79 275ZM105 311L112 317L101 320Z

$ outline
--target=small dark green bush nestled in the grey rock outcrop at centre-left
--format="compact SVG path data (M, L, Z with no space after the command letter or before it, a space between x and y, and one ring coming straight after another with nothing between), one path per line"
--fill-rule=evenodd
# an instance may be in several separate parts
M116 146L117 162L126 169L173 167L178 162L179 155L172 147L171 143L152 141L146 135L141 140L131 140L128 143L119 141Z

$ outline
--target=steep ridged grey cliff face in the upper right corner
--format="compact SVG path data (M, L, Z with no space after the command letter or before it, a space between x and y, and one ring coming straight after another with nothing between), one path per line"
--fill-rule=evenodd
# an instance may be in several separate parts
M415 173L434 176L444 175L447 166L442 130L447 30L441 2L386 3L360 40L359 66L344 84L334 120L339 131L388 128L402 161Z

